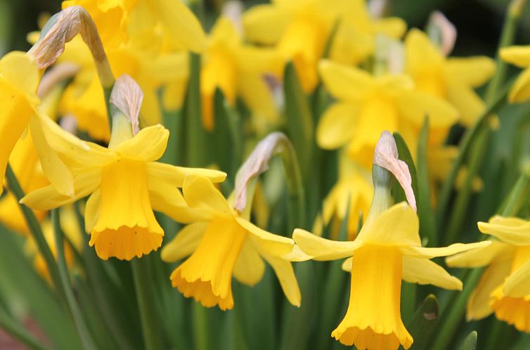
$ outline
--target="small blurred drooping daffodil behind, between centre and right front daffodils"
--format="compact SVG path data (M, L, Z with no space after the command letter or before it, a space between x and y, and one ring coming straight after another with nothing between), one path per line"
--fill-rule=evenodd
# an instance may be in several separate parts
M373 186L369 174L356 166L347 157L340 158L339 179L325 197L322 207L322 219L325 225L333 219L342 223L348 214L348 238L353 240L357 234L359 215L366 217L373 197ZM347 210L349 208L349 212ZM337 227L339 227L337 225ZM332 238L337 238L332 232Z

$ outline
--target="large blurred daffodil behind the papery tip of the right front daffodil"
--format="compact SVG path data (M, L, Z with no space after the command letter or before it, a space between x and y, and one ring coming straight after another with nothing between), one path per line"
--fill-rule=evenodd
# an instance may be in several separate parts
M364 166L371 164L383 130L399 131L415 150L426 115L432 129L448 129L458 119L458 111L451 104L414 89L413 81L404 75L373 77L329 60L322 60L319 70L326 88L338 101L322 115L316 141L325 149L348 145L352 159Z

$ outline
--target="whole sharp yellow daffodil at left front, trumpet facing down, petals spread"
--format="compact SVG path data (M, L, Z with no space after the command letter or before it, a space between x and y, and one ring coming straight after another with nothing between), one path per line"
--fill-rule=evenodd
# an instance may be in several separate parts
M169 131L161 125L147 127L134 135L127 117L115 118L108 148L88 143L90 149L72 152L57 149L75 174L75 195L58 193L46 186L26 195L22 202L47 210L91 195L86 202L86 231L90 245L101 259L133 259L162 244L164 231L153 210L181 221L193 221L193 214L177 187L186 174L201 174L223 181L226 174L207 169L174 167L155 162L167 145Z

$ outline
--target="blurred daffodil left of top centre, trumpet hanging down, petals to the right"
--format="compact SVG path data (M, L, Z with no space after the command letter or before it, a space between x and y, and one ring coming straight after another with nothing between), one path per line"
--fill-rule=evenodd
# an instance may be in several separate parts
M258 117L273 121L277 117L266 74L278 78L282 60L270 48L243 44L240 34L228 18L221 17L212 28L207 50L202 57L200 93L202 124L214 128L214 93L221 89L228 103L241 96Z

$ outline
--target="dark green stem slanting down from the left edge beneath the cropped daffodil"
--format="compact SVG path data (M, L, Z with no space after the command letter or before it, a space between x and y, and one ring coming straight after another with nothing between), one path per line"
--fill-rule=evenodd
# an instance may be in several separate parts
M48 271L51 276L51 281L56 287L58 297L60 301L64 303L65 294L63 287L60 283L60 276L56 261L53 258L53 254L51 252L50 246L48 245L48 242L46 242L46 238L44 238L44 233L42 233L42 228L39 224L39 221L37 221L37 217L35 217L34 212L26 205L20 203L20 200L22 199L22 197L25 196L25 193L20 187L20 183L18 182L17 176L13 172L13 169L11 169L11 165L9 163L6 167L6 181L8 183L9 190L11 190L11 193L13 193L13 195L15 195L15 198L19 201L18 205L22 210L22 214L24 215L24 218L26 220L27 227L30 228L32 238L37 244L39 252L41 253L42 257L44 258L44 261L46 262L46 268L48 268Z

